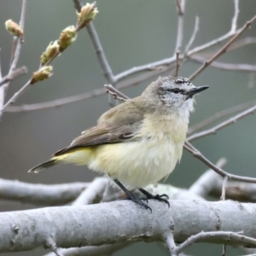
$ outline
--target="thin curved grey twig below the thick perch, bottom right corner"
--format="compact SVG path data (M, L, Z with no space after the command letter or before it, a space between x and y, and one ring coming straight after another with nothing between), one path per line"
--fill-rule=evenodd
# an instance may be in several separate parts
M175 249L176 253L181 253L184 249L192 246L196 242L200 241L211 241L212 239L222 239L225 241L236 241L238 243L245 243L248 242L252 246L256 245L256 239L249 236L243 236L241 235L242 232L226 232L226 231L212 231L212 232L204 232L201 231L201 233L196 234L194 236L190 236L186 241L184 241L182 244L177 246Z

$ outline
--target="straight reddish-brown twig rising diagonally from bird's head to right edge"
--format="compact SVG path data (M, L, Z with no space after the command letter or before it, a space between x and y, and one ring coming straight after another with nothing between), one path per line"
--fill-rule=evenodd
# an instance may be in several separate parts
M212 58L210 58L208 61L206 61L198 70L195 71L195 73L193 73L190 77L189 80L193 80L195 79L206 67L208 67L209 65L211 65L211 63L213 61L215 61L220 55L223 55L225 53L225 51L230 47L231 44L233 44L236 40L236 38L240 37L242 32L244 32L245 30L247 30L247 28L249 26L252 25L253 21L256 19L256 15L253 16L253 19L248 20L247 23L241 28L241 30L239 32L237 32L231 39L229 42L227 42L226 44L224 44L224 46L219 49L213 56Z

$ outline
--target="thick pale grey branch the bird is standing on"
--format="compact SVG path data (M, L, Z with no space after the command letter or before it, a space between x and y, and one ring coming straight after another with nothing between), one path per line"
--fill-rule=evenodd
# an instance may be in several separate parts
M252 214L256 211L255 204L236 201L170 203L171 207L168 208L160 202L149 201L153 213L131 201L1 212L0 252L31 250L43 246L49 237L57 247L92 246L119 241L162 241L162 234L170 231L173 231L175 241L179 242L201 230L245 230L244 236L256 237ZM226 241L217 236L210 242L254 246L253 242Z

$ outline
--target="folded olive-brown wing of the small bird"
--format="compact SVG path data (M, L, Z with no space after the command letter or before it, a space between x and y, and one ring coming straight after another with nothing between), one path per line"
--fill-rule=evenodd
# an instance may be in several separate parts
M119 106L118 106L119 107ZM143 113L137 108L112 108L99 119L98 125L85 130L67 148L54 156L66 154L75 148L132 140L143 122Z

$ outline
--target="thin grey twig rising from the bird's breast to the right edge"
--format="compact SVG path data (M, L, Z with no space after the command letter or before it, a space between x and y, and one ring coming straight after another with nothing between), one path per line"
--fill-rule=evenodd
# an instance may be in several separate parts
M191 136L189 136L187 138L187 140L189 142L191 142L191 141L194 141L195 139L199 139L201 137L205 137L210 134L215 134L217 131L223 129L224 127L226 127L228 125L235 124L236 121L238 121L239 119L242 119L242 118L246 117L247 115L252 114L255 111L256 111L256 105L254 105L252 108L247 108L246 110L242 111L241 113L236 114L235 116L231 117L230 119L227 119L224 122L222 122L218 125L215 125L208 130L192 134Z

